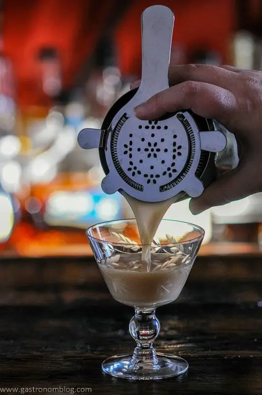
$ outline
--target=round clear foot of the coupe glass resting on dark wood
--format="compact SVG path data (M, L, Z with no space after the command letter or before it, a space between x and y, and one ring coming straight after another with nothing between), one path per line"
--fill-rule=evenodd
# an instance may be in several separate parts
M104 360L102 369L114 377L129 380L159 380L178 376L188 369L185 359L170 354L156 354L157 363L145 361L143 367L134 364L132 357L131 354L112 356Z

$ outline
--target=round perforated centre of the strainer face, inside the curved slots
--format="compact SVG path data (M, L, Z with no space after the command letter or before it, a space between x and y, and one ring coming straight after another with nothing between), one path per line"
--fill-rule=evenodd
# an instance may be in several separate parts
M123 118L126 119L125 116ZM170 183L187 164L189 144L186 132L178 136L175 121L171 127L168 127L168 122L159 120L137 120L136 123L132 124L132 132L126 119L118 135L115 133L112 138L112 159L117 171L116 163L120 156L123 158L119 170L122 169L142 188L145 183L157 188Z

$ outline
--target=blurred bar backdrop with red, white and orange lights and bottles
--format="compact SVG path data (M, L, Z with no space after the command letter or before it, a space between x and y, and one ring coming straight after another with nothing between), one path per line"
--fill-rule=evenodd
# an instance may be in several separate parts
M148 0L0 1L0 254L89 254L84 230L133 217L105 195L95 150L77 145L100 128L140 77ZM262 70L261 0L162 0L176 15L172 63ZM260 252L262 195L196 217L188 201L166 217L206 230L201 253Z

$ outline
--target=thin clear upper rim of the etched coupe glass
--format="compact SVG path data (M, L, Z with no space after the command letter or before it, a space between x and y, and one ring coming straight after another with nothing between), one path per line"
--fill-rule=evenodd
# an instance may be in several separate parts
M90 235L91 230L96 228L96 227L106 226L106 225L109 225L109 224L116 224L117 222L119 223L119 222L128 222L128 221L135 221L137 223L135 218L117 219L117 220L112 220L112 221L100 222L100 223L97 223L97 224L89 226L89 228L86 229L85 234L86 234L86 236L88 238L90 237L92 240L103 242L103 243L107 243L107 244L112 244L112 245L117 245L117 246L122 246L122 247L125 246L125 245L133 245L133 244L130 244L130 243L127 243L127 242L126 243L125 242L121 243L121 242L102 240L101 238L93 237L92 235ZM185 224L185 225L191 225L193 228L199 230L201 232L201 234L199 236L197 236L197 237L191 238L190 240L186 240L186 241L177 241L177 242L174 242L174 243L166 243L166 244L155 243L155 242L152 242L151 244L138 244L137 243L137 244L135 244L135 246L136 247L140 247L140 248L142 248L143 246L147 246L147 247L176 246L178 244L183 245L183 244L188 244L188 243L193 243L193 242L196 242L196 241L200 241L205 236L205 230L203 228L201 228L201 226L192 224L191 222L179 221L179 220L168 219L168 218L161 219L160 223L162 221L170 221L170 222L176 222L176 223Z

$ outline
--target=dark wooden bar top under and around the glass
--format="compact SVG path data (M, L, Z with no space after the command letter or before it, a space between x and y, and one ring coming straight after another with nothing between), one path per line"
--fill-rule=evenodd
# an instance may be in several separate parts
M133 350L133 310L112 300L94 261L2 259L0 388L262 394L260 306L261 257L198 257L179 299L157 310L155 346L185 357L188 372L162 381L116 379L100 365L107 356Z

